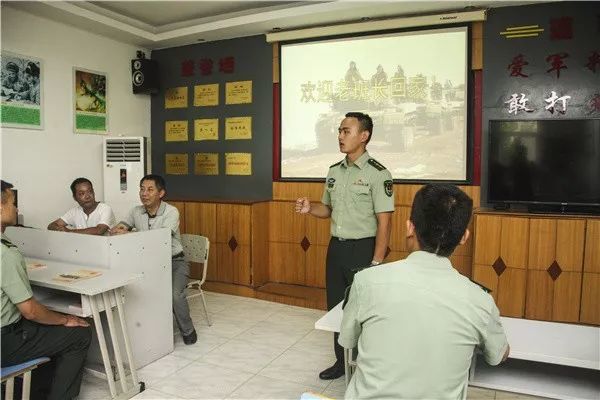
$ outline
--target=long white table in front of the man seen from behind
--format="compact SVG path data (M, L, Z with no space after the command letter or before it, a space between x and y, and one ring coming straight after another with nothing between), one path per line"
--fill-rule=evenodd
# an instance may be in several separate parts
M315 329L339 332L342 317L340 302L315 322ZM600 398L600 327L500 319L510 344L509 358L529 364L490 367L477 363L474 355L470 385L559 399ZM350 356L351 349L344 349L346 385L355 367Z

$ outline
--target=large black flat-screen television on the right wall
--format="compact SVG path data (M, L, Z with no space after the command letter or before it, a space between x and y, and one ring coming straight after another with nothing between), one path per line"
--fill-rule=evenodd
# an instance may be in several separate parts
M600 212L600 119L492 120L488 203Z

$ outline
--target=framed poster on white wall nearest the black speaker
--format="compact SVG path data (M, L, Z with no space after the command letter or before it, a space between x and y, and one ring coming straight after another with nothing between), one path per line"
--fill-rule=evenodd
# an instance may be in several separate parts
M75 133L108 133L106 74L73 68L73 126Z

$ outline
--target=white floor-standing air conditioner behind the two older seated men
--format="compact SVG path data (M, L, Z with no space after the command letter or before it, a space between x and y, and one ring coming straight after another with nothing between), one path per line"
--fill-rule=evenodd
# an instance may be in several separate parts
M140 180L146 175L146 138L104 138L104 202L117 222L140 204Z

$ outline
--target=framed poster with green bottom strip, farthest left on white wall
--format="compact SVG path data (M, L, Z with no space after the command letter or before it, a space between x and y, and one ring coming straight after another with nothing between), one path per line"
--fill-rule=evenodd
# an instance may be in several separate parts
M2 51L0 64L2 127L43 129L42 61Z

